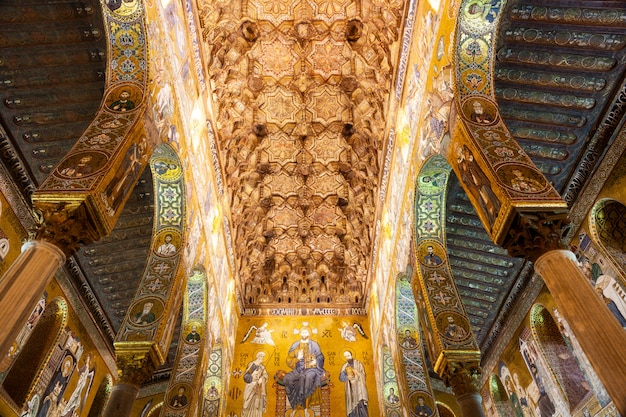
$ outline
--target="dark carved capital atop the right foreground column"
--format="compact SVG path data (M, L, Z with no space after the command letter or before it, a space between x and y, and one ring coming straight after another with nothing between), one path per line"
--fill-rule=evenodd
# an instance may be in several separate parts
M569 221L565 212L518 212L502 246L509 255L536 261L551 250L564 249Z

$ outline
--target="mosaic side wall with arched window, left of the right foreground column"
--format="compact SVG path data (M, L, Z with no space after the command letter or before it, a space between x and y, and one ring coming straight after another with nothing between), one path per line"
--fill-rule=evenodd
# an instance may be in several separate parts
M488 417L616 416L569 325L544 289L512 335L483 393Z

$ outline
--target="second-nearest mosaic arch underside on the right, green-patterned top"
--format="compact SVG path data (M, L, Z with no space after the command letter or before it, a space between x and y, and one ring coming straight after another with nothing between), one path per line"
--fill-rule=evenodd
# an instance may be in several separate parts
M435 155L428 158L415 184L416 275L425 302L428 323L422 323L435 372L445 372L451 361L479 362L465 307L454 283L446 248L446 195L451 167ZM456 325L450 333L448 325ZM455 353L456 352L456 353Z

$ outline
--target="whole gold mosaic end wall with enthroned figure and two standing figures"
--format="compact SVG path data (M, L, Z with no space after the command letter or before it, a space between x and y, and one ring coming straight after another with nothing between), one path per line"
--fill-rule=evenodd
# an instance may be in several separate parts
M361 316L241 318L227 415L379 415L368 329Z

